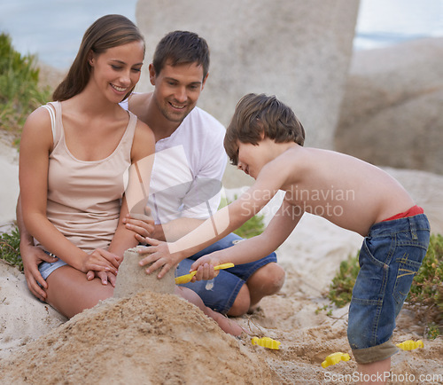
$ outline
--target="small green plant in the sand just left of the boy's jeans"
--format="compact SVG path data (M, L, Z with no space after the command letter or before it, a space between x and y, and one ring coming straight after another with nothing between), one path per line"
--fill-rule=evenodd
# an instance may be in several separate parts
M346 261L340 263L340 268L330 284L328 298L338 308L351 302L355 279L357 279L360 266L358 263L360 252L357 255L348 255Z

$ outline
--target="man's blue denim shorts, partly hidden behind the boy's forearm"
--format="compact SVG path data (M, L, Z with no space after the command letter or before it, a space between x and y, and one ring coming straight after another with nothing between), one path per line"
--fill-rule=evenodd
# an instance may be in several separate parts
M237 242L243 240L238 235L230 233L225 238L204 248L190 258L179 263L175 274L180 276L190 272L190 265L197 261L200 256L213 253L214 251L230 248ZM276 253L271 253L258 261L239 264L229 269L221 270L219 275L211 280L199 280L180 286L189 287L196 292L205 305L222 314L226 314L237 298L240 288L245 284L255 271L265 264L276 262Z

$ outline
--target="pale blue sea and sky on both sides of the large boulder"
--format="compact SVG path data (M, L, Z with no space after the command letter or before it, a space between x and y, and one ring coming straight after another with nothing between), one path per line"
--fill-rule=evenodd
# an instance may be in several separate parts
M354 0L348 0L354 1ZM136 21L137 0L0 0L0 33L14 48L68 68L84 31L98 17L120 13ZM443 0L361 0L354 50L443 35Z

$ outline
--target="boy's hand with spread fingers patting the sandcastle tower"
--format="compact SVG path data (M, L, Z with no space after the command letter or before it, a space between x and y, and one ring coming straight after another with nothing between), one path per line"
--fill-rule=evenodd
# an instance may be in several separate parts
M137 247L138 253L140 255L147 255L144 259L140 260L140 266L145 266L146 264L152 263L146 269L147 274L151 274L152 271L156 271L161 268L161 271L158 274L158 278L163 278L164 275L171 268L175 268L175 266L182 261L183 258L179 255L179 253L170 254L169 248L167 247L167 242L163 242L162 240L154 240L153 238L145 238L146 241L152 246L139 246Z

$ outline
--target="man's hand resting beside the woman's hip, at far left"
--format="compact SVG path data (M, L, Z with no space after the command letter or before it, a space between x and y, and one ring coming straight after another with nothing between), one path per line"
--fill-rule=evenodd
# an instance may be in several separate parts
M23 260L23 270L25 271L25 278L27 279L27 287L29 287L33 295L45 302L46 292L43 289L47 289L48 284L43 279L40 271L38 271L38 265L42 262L56 262L58 258L46 254L42 248L22 244L20 244L20 255ZM38 286L39 283L43 288Z

